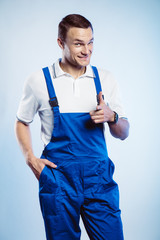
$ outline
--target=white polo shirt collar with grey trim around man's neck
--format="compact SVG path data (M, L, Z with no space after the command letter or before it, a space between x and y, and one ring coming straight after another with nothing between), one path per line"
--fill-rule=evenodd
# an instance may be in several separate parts
M64 72L62 70L62 68L60 67L60 64L59 64L60 61L61 61L61 59L58 59L53 64L54 78L58 78L58 77L61 77L61 76L64 76L64 75L69 75L68 73ZM95 77L91 65L88 65L86 67L86 72L82 76L80 76L80 78L83 78L83 77L90 77L90 78Z

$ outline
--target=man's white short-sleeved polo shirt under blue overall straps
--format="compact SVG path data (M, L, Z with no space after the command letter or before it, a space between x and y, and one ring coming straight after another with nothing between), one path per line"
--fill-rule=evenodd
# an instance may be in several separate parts
M65 73L59 60L49 67L61 113L90 112L97 106L94 73L90 65L85 74L74 79ZM98 69L104 100L120 118L126 118L120 99L119 88L109 71ZM41 120L41 137L45 145L51 139L54 115L49 105L49 95L43 71L33 73L25 82L17 118L26 124L38 113Z

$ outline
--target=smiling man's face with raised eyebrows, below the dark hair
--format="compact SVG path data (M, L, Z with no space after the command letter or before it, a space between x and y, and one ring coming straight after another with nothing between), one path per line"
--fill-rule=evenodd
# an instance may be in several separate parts
M63 50L63 60L69 65L83 68L90 63L93 51L93 32L89 27L68 30L66 40L61 46Z

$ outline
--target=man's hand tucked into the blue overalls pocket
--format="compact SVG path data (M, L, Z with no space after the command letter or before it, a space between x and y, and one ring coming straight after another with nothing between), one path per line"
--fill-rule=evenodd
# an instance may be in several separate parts
M27 163L32 169L34 175L38 180L45 166L49 166L51 168L57 167L57 165L55 165L54 163L50 162L47 159L36 158L36 157L33 157L32 160L28 160Z

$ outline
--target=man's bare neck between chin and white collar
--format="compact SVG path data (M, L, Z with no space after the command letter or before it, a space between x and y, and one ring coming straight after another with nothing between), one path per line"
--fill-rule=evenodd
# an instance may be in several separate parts
M75 79L79 78L86 71L86 67L77 67L77 66L71 65L66 61L64 61L63 59L60 62L60 67L64 72L69 73Z

